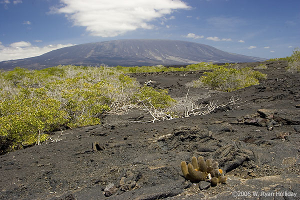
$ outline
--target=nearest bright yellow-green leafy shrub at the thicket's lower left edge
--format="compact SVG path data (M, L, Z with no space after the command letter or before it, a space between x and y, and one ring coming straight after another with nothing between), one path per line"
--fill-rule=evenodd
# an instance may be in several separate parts
M0 101L0 135L11 141L12 149L35 143L39 132L55 130L66 121L60 102L42 88L22 88Z

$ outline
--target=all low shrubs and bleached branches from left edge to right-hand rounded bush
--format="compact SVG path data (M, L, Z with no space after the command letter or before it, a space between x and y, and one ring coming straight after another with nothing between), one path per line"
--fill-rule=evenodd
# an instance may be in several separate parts
M233 65L232 65L233 66ZM203 115L217 108L215 102L172 99L167 90L140 85L126 73L213 70L204 72L194 86L232 91L265 77L250 68L228 68L201 62L186 67L84 67L55 66L41 70L16 67L0 73L0 154L34 145L62 128L99 124L103 114L132 109L147 111L155 120ZM198 84L200 83L200 84ZM234 103L240 99L231 99ZM146 122L146 121L142 121Z

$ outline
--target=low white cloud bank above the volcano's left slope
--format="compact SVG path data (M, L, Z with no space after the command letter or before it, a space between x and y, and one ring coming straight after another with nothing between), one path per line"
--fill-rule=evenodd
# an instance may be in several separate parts
M0 61L10 59L21 59L41 55L57 48L72 46L74 44L49 44L43 47L32 45L28 41L13 42L9 45L3 45L0 41Z

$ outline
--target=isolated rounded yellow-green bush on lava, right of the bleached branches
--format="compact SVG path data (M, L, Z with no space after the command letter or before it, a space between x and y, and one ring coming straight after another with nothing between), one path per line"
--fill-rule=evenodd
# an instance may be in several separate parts
M203 86L221 91L233 91L254 84L259 84L259 80L266 77L259 71L253 71L249 67L236 69L219 66L212 72L204 72L206 76L201 76L200 81Z

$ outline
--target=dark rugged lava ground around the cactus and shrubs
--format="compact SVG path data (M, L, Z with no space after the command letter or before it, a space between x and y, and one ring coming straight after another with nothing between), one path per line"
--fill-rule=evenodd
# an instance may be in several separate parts
M300 73L287 72L286 62L264 63L258 70L268 78L259 85L191 88L204 103L240 96L210 114L154 123L132 122L150 119L141 111L109 115L0 156L0 199L300 199ZM132 76L179 99L201 74ZM185 180L180 162L200 155L219 162L226 184L200 190Z

